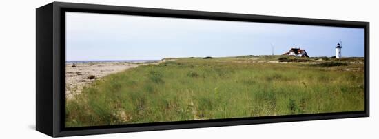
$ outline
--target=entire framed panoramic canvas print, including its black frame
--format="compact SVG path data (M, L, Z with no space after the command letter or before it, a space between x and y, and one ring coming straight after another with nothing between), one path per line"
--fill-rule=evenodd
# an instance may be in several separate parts
M369 23L54 2L37 131L76 136L369 116Z

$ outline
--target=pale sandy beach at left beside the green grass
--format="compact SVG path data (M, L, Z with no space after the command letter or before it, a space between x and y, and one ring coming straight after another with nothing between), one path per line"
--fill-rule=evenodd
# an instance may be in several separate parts
M66 63L65 65L65 96L72 98L80 94L85 85L103 78L109 74L122 72L140 65L156 64L159 62L91 62Z

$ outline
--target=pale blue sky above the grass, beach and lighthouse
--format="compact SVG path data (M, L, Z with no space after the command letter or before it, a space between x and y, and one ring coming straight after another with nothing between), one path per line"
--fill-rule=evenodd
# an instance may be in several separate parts
M167 57L283 54L364 55L362 28L214 21L66 12L66 60L159 60Z

